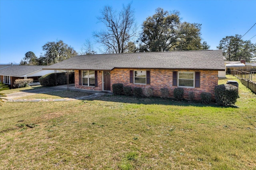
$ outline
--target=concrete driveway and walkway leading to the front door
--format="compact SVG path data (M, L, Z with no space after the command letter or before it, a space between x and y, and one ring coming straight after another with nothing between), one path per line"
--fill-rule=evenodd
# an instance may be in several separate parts
M112 92L100 92L96 90L84 90L84 89L78 89L75 88L74 84L69 85L70 91L77 91L77 92L87 92L92 93L89 96L82 96L79 98L60 98L60 99L17 99L21 98L23 96L32 96L34 94L44 94L48 92L57 92L57 91L63 91L67 90L67 85L60 85L60 86L53 86L53 87L43 87L39 89L31 89L31 90L24 90L22 92L16 92L12 94L7 94L6 97L2 97L6 99L7 102L55 102L55 101L73 101L73 100L88 100L91 98L96 98L98 96L103 96L105 94L112 95Z

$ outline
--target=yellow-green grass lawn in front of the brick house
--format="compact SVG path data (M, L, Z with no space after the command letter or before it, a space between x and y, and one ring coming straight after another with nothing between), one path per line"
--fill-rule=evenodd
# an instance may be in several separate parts
M256 169L256 95L238 82L234 107L126 96L5 102L0 169Z

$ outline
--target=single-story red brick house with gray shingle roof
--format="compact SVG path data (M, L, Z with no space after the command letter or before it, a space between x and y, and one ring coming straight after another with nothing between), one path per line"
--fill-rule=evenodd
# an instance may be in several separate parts
M212 94L218 85L218 71L225 65L221 50L170 51L150 53L120 53L75 56L44 69L74 70L75 88L112 91L112 85L152 88L154 96L161 96L161 88L168 88L170 98L174 88L195 93Z

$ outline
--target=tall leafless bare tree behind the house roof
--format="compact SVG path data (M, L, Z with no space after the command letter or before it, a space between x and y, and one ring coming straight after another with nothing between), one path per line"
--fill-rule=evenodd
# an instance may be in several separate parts
M124 53L128 42L136 36L138 29L134 10L131 3L123 6L123 9L117 13L110 6L105 6L101 11L98 20L106 26L105 30L94 32L98 43L102 43L106 48L106 53Z

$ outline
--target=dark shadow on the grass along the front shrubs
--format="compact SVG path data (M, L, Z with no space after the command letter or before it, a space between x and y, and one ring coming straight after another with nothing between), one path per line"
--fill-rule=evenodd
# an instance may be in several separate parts
M218 106L215 103L212 104L202 104L200 102L188 102L185 100L178 101L176 99L168 98L158 98L158 97L151 97L151 98L136 98L134 96L122 96L122 95L104 95L97 98L88 99L89 101L93 100L100 100L106 102L121 102L121 103L130 103L130 104L156 104L156 105L173 105L173 106L196 106L196 107L233 107L238 108L237 106Z

